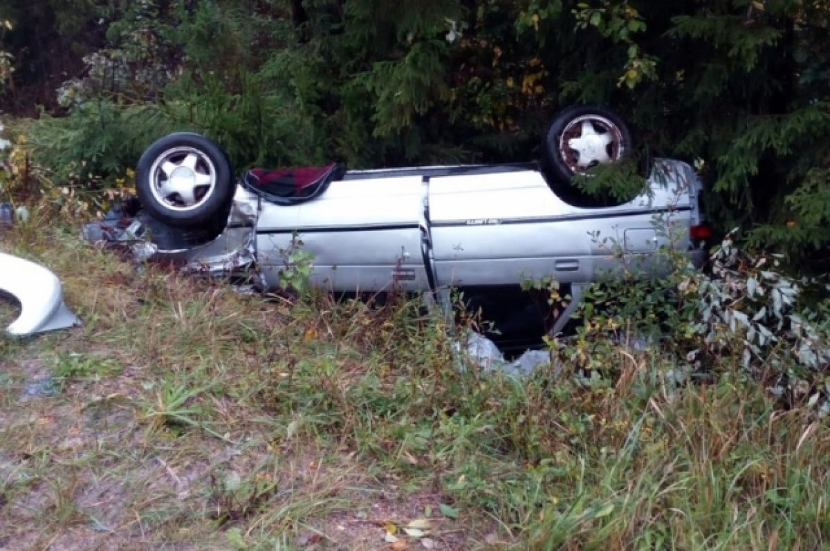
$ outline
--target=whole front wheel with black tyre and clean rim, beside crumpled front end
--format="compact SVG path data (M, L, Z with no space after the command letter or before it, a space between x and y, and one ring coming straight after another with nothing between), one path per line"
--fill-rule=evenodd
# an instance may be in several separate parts
M173 227L214 226L233 197L231 163L200 134L168 134L144 151L136 171L144 211Z

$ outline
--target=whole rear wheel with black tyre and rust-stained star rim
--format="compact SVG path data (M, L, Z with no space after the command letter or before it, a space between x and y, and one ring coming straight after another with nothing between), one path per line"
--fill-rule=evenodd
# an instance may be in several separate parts
M596 105L574 105L556 115L544 139L549 178L570 182L603 163L615 163L634 149L622 117Z

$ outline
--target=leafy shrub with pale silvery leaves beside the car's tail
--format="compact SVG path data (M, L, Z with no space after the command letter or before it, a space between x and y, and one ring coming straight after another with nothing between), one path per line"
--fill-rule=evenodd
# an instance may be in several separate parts
M667 227L665 219L655 223ZM676 384L746 373L784 405L806 402L830 413L828 281L784 275L781 255L751 253L736 237L730 232L715 247L706 271L666 250L666 277L628 266L622 279L593 285L581 307L584 325L561 354L602 373L618 367L608 361L618 343L651 344L649 354L673 358L668 375ZM618 254L616 244L610 248Z

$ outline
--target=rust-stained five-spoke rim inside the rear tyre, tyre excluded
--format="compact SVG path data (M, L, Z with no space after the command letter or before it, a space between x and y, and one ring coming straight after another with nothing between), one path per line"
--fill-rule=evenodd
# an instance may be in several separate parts
M559 136L559 154L574 173L619 160L623 147L623 133L599 115L575 117Z

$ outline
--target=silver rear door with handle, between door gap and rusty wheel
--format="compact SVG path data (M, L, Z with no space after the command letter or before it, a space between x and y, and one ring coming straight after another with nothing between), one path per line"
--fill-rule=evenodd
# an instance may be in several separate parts
M586 280L588 227L564 220L569 205L536 170L429 180L437 285L505 285L554 275Z

